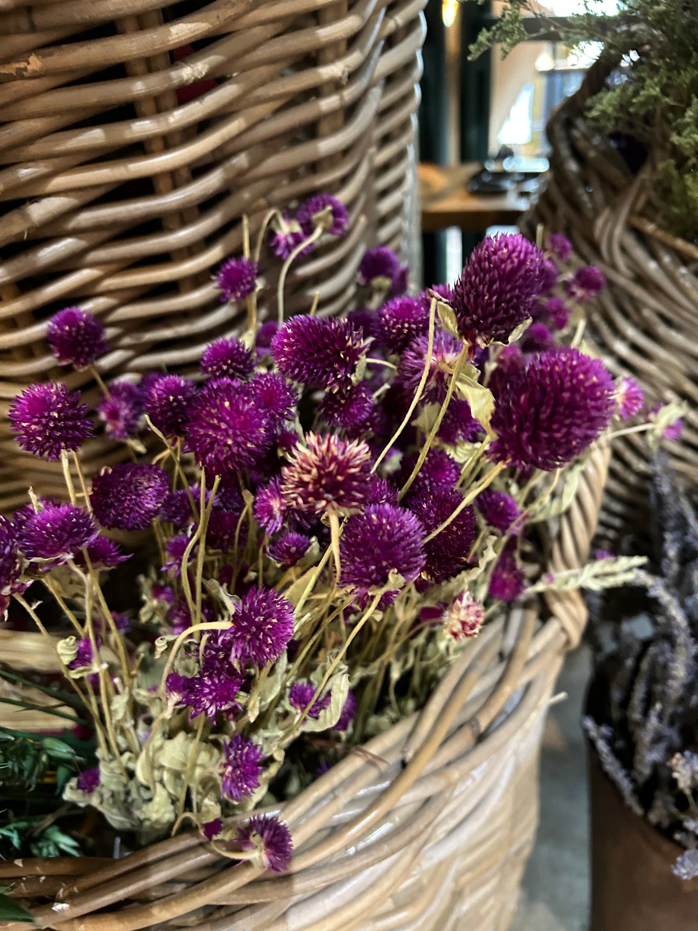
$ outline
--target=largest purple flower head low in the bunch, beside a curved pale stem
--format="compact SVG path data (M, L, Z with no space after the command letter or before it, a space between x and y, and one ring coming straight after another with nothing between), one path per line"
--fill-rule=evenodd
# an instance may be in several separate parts
M273 588L250 588L226 633L231 659L257 668L270 666L293 636L293 605Z

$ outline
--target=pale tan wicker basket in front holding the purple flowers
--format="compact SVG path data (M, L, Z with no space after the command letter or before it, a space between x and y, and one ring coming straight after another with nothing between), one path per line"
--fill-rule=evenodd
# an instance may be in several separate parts
M552 572L586 560L608 459L608 446L591 456ZM289 874L231 865L190 833L115 862L0 863L0 881L65 931L505 931L537 823L545 709L585 619L568 591L485 627L421 713L274 809L293 833Z

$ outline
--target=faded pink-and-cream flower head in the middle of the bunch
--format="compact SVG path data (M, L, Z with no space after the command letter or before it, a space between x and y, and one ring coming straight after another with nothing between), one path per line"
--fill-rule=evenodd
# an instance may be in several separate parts
M369 446L356 439L309 433L281 471L281 496L305 513L346 513L366 504L370 485Z

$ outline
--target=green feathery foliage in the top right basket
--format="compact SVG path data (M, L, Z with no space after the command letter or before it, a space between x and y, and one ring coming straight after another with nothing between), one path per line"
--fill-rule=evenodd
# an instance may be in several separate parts
M566 25L546 21L540 7L505 0L501 20L471 48L477 56L495 43L503 55L525 38L524 13L541 34L557 32L569 46L602 45L611 77L587 104L587 116L611 139L629 137L650 158L655 206L679 236L698 236L698 7L695 0L622 0L609 17L598 0ZM624 153L624 145L619 146ZM641 160L641 159L640 159ZM638 160L629 160L637 168Z

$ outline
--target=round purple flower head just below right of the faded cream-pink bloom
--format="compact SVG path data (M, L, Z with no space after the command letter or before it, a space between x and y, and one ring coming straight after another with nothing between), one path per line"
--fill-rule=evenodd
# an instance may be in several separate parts
M360 601L399 573L413 582L424 565L424 532L404 507L369 505L347 520L340 542L342 585L356 588Z

